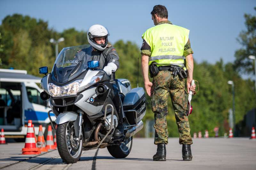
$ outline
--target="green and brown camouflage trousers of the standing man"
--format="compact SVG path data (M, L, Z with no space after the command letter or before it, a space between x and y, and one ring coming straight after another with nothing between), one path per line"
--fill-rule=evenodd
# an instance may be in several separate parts
M169 70L159 71L153 78L152 111L155 114L155 144L168 144L166 115L169 93L175 112L176 123L180 134L180 144L192 144L187 116L188 94L185 91L185 80L172 75Z

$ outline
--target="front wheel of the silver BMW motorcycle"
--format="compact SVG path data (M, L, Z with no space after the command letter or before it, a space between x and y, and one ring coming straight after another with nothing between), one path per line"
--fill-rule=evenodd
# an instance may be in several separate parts
M83 151L83 142L74 140L75 129L73 122L58 125L56 129L56 142L58 152L63 162L67 164L76 163Z

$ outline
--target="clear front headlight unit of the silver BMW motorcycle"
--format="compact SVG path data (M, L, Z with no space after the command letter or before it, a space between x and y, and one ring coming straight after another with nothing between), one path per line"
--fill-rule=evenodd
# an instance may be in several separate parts
M76 95L82 81L83 80L76 80L64 86L57 86L53 83L49 83L48 90L52 97Z

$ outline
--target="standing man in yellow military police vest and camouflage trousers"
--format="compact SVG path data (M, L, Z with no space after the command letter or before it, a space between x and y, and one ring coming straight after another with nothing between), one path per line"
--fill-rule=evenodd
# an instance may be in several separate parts
M168 144L166 115L169 93L180 134L183 160L192 160L190 145L193 142L188 123L188 94L185 91L184 80L187 77L187 90L194 92L195 86L190 86L194 63L188 38L189 30L172 25L168 21L168 11L163 5L154 6L151 15L155 26L142 35L141 65L145 89L152 97L151 107L155 114L154 143L157 144L157 152L153 160L166 160L165 144ZM149 81L148 71L153 77L153 83Z

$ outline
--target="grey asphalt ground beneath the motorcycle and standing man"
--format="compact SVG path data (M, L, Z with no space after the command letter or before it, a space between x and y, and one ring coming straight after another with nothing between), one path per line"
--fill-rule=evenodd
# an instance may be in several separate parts
M191 146L193 160L182 161L178 138L169 138L165 162L153 161L153 138L134 138L132 151L124 159L115 159L107 148L83 151L75 164L62 163L57 150L40 155L21 155L24 143L0 145L0 169L256 169L256 140L248 138L196 138Z

